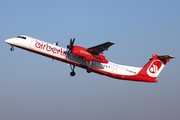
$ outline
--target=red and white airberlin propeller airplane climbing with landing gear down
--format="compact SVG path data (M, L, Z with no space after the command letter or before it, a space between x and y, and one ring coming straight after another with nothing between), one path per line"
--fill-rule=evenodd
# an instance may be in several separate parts
M63 48L58 45L58 42L50 44L26 35L9 38L5 42L11 45L11 51L14 51L14 47L18 47L53 60L68 63L71 68L71 76L75 76L75 66L77 66L86 69L87 73L94 72L118 80L156 83L158 81L156 78L166 63L174 58L171 55L152 54L152 58L147 64L140 68L108 61L103 52L108 50L114 44L113 42L85 48L74 45L75 38L71 38L67 48Z

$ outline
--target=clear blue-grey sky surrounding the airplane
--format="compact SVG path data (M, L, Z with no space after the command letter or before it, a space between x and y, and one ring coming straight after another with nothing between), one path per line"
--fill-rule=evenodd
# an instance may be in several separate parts
M179 0L0 0L0 120L179 120ZM111 62L142 67L153 53L175 56L158 83L87 74L18 48L28 35L66 47L115 44Z

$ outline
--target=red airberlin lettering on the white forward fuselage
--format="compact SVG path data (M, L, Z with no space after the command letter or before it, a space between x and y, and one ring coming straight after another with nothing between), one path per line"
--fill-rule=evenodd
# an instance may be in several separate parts
M35 46L36 46L36 48L46 50L46 51L52 52L54 54L60 54L62 56L66 56L66 54L62 50L62 48L57 48L57 47L51 46L48 43L43 43L43 42L40 42L40 41L36 40Z

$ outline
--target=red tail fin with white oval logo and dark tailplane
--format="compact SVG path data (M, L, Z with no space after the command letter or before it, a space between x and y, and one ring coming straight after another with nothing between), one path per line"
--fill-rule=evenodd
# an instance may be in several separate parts
M170 55L153 54L150 61L140 70L139 74L149 79L156 79L164 66L170 59L174 58Z

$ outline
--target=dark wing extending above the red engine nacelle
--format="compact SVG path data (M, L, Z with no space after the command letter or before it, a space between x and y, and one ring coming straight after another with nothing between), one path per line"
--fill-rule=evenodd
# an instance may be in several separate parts
M106 42L94 47L87 48L87 51L92 53L92 54L99 54L103 53L103 51L108 50L108 48L113 45L113 42Z

